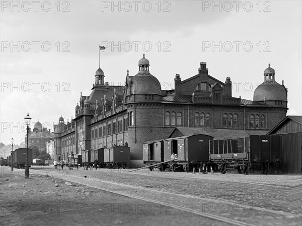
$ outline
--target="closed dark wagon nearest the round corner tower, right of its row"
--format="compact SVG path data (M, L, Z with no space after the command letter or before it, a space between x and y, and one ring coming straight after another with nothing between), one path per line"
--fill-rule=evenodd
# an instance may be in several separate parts
M114 146L104 149L104 164L107 168L126 168L130 163L130 148Z

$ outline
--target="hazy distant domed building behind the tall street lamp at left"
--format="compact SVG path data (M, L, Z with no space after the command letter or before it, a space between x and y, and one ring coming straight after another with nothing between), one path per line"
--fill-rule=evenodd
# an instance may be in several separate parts
M46 143L53 137L53 133L47 128L42 128L42 124L39 122L35 123L33 131L29 131L28 146L37 146L39 151L46 150ZM27 135L25 135L25 145L27 144Z

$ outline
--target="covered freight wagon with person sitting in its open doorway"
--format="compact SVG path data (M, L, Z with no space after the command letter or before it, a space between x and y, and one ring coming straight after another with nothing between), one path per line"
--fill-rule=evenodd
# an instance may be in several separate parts
M183 167L185 172L189 172L191 167L204 167L209 162L211 140L213 137L202 134L164 140L164 161L171 160L172 153L177 154L177 160L168 162L166 167L169 166L173 172L179 167Z

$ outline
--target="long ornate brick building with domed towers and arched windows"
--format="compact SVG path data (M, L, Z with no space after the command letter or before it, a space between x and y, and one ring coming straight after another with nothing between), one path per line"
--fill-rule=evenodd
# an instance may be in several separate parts
M208 74L201 62L195 76L174 78L174 90L162 90L159 80L150 74L149 61L138 62L138 73L127 71L125 86L110 86L98 69L89 96L81 93L75 106L75 118L65 124L60 117L55 125L55 151L64 159L73 152L115 145L130 147L131 160L142 159L142 143L168 138L175 128L201 128L227 133L247 131L267 133L286 117L287 89L275 81L269 65L264 82L254 92L253 100L232 97L232 81L225 82ZM241 133L242 131L243 133Z

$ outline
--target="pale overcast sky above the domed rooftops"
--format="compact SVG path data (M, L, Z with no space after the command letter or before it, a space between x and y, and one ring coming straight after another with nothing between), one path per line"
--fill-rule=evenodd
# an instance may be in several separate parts
M206 62L253 100L271 64L288 88L287 115L301 115L301 1L1 2L1 138L24 141L24 117L44 126L74 118L99 68L112 85L135 75L145 53L162 89ZM32 126L33 128L33 126Z

